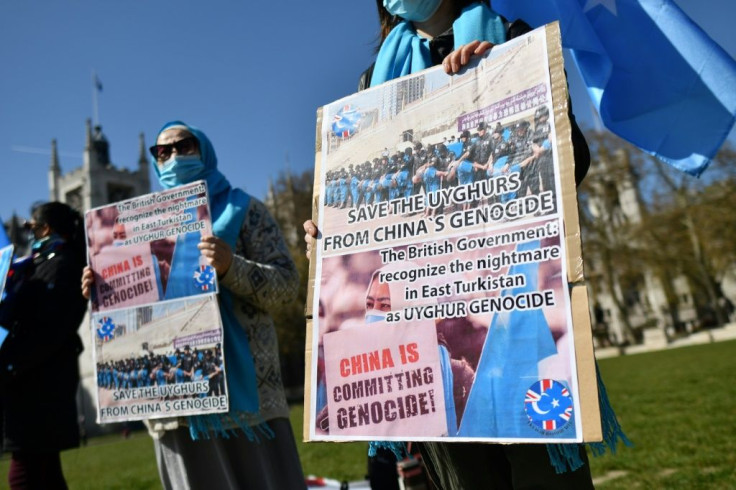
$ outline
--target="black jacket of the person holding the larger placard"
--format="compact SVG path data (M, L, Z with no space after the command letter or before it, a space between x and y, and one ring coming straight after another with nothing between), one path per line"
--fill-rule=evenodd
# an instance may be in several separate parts
M531 26L523 20L504 22L504 26L506 27L506 39L514 39L515 37L522 36L532 30ZM429 52L432 56L433 66L441 64L442 60L444 60L445 57L453 51L454 46L455 37L453 35L452 28L430 40ZM365 90L370 87L374 66L375 64L371 65L360 76L358 90ZM583 132L575 121L575 115L572 113L572 103L570 103L569 100L567 107L570 124L572 126L571 139L575 157L575 184L579 185L588 173L588 168L590 167L590 150L588 149L588 143L585 141Z

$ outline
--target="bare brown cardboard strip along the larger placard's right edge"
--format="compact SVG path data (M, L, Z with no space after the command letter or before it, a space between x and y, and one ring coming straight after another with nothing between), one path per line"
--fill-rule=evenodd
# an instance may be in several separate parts
M567 250L567 280L570 284L570 304L575 342L578 391L580 395L581 426L584 442L603 440L598 382L595 375L593 332L590 322L588 290L583 275L583 254L578 216L577 189L575 186L575 157L572 148L572 125L568 117L570 98L562 56L560 25L553 22L545 26L547 56L557 155L560 162L561 194L563 202L564 240Z

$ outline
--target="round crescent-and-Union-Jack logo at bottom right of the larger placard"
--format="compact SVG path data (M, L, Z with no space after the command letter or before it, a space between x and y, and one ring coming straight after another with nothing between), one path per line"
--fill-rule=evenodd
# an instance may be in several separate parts
M526 391L524 410L529 421L539 429L562 429L572 418L570 391L559 381L542 379Z

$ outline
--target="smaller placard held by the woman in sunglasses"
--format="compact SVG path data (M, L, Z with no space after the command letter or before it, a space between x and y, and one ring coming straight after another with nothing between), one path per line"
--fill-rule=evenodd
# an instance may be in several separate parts
M97 421L228 410L204 181L85 214Z

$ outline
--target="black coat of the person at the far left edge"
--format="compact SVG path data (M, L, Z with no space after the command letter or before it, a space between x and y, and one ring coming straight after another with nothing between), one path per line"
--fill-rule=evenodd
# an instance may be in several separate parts
M48 452L79 445L77 329L87 307L84 264L64 243L45 243L15 268L0 304L10 331L0 348L3 450Z

